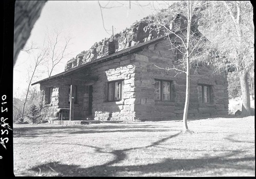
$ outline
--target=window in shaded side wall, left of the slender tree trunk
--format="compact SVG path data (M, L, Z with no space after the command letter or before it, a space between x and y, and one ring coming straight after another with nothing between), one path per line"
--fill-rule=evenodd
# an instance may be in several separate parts
M171 100L171 82L170 81L155 80L154 99L161 100L161 101Z

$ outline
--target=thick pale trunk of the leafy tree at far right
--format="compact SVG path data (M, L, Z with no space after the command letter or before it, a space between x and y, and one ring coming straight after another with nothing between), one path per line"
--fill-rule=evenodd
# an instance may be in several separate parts
M250 116L250 91L248 83L248 72L239 72L242 93L242 117Z

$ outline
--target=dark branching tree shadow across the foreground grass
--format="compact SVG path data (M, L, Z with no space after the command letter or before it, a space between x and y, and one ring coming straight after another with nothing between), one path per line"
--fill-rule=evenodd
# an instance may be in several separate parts
M60 162L50 162L35 166L30 171L36 172L37 174L44 174L48 176L128 176L140 174L151 174L151 173L170 173L182 171L183 175L193 175L199 170L207 168L207 170L218 170L218 169L237 169L237 170L249 170L255 171L255 167L248 163L255 162L253 157L234 158L235 155L241 154L244 151L230 150L225 155L215 157L203 157L199 159L171 159L167 158L163 162L153 164L142 164L142 165L125 165L125 166L113 166L114 164L122 163L127 159L126 152L134 149L147 150L149 147L155 147L161 145L163 142L172 139L181 132L166 138L157 140L148 146L135 147L121 150L112 150L106 152L104 148L89 146L95 149L95 152L109 153L114 155L114 159L103 165L92 166L88 168L82 168L78 165L66 165ZM152 154L153 155L153 154ZM243 162L246 162L244 164ZM214 173L212 173L214 175Z

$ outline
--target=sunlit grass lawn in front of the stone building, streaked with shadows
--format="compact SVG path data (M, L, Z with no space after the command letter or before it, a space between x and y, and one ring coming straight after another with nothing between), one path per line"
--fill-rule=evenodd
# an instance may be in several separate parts
M255 176L254 116L13 125L15 176Z

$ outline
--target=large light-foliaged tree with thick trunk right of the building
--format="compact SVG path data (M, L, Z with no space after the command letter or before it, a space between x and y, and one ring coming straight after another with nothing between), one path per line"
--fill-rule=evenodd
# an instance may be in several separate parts
M202 21L201 32L214 50L216 72L237 71L242 93L242 114L250 115L249 73L254 66L253 9L248 1L210 1ZM217 54L216 54L217 53Z

